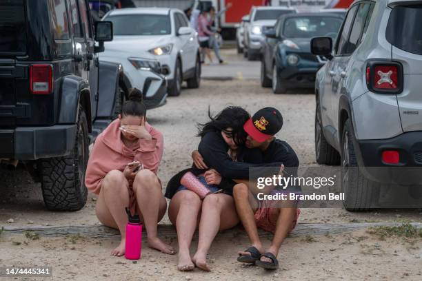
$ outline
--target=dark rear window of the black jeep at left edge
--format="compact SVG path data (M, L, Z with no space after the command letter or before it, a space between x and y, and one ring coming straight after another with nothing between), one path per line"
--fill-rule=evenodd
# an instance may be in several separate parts
M0 52L26 52L25 6L23 0L0 0Z

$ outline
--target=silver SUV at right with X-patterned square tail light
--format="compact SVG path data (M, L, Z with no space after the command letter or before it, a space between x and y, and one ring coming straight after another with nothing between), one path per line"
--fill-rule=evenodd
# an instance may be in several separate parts
M420 195L420 169L403 168L422 166L421 3L354 1L334 48L312 39L329 59L316 74L316 161L341 164L350 211L376 205L385 185Z

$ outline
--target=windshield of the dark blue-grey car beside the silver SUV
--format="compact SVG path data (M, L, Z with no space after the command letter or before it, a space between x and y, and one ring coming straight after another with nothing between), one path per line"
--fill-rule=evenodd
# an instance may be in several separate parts
M343 19L336 17L294 17L284 22L283 35L288 38L336 37Z

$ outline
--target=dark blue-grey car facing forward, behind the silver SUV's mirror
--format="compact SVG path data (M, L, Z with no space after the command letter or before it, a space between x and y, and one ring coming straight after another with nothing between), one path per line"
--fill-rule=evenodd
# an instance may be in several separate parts
M289 88L314 87L315 74L326 59L310 52L312 37L336 37L343 17L334 13L285 14L265 32L261 85L274 94Z

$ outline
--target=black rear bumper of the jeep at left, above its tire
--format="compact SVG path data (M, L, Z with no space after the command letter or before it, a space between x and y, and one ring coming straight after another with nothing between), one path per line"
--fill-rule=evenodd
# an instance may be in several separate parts
M66 156L76 141L77 125L0 129L0 158L36 160Z

